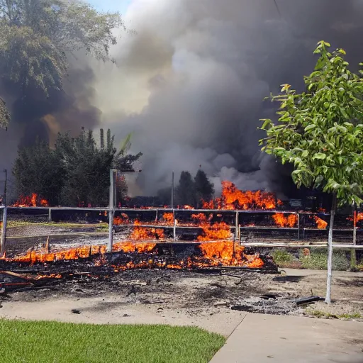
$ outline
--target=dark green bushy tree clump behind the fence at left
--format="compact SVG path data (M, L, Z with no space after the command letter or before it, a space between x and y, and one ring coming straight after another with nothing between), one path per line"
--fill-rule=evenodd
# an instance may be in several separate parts
M106 142L103 130L100 135L100 145L92 131L82 130L77 138L59 134L54 150L44 142L19 149L13 166L18 193L37 193L50 205L107 206L110 169L115 164L131 169L141 155L118 152L110 130Z

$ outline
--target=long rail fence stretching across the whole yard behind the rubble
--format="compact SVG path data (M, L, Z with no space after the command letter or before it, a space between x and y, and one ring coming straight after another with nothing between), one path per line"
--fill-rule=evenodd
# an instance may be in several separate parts
M152 242L196 242L205 225L192 220L192 214L213 215L213 223L225 222L230 229L230 240L246 247L327 247L328 225L318 229L314 218L329 223L329 213L296 211L230 211L177 208L72 208L72 207L4 207L0 206L1 255L18 255L27 250L41 250L45 245L53 250L77 245L111 246L109 218L127 216L124 223L112 225L112 240L130 240L133 228L164 231L164 237L148 239ZM166 222L165 213L172 213ZM278 226L272 216L296 216L292 226ZM363 250L363 228L354 227L350 216L337 216L334 247ZM113 219L111 219L113 220ZM135 220L138 224L135 225ZM363 225L362 225L363 227ZM355 229L355 233L354 233ZM353 240L354 235L356 240ZM203 242L213 242L203 241Z

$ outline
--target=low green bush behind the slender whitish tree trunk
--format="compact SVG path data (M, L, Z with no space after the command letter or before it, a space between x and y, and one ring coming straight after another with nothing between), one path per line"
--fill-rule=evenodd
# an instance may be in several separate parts
M305 248L299 257L304 269L328 269L328 250ZM333 269L336 271L346 271L350 268L350 262L344 251L333 252Z

